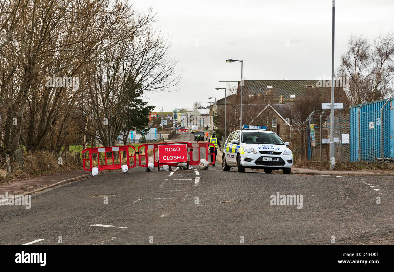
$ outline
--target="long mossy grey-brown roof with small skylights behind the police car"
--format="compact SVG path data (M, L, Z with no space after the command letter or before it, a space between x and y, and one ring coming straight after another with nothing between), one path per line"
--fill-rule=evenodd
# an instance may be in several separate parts
M237 93L241 90L241 81L238 81ZM283 95L285 101L296 101L303 98L306 90L316 89L316 91L327 91L325 88L318 88L316 84L319 80L245 80L242 87L243 97L246 95L264 95L271 90L273 96L280 97ZM336 87L335 89L342 89Z

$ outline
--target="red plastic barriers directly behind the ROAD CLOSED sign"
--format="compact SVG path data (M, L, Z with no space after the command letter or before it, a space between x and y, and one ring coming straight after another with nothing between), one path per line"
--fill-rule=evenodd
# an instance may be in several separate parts
M138 146L138 164L141 167L147 167L148 163L154 163L155 167L160 167L161 165L177 166L177 163L159 163L157 147L158 145L168 145L168 144L187 144L188 145L188 164L189 165L199 165L200 159L206 159L210 161L210 155L213 155L213 161L215 161L215 152L210 152L209 147L215 147L214 144L209 142L166 142L161 144L141 144ZM204 150L203 152L201 150ZM213 165L214 163L210 163Z

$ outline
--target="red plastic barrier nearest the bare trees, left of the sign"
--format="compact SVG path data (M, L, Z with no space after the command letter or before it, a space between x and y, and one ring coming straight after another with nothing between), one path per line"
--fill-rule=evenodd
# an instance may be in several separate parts
M125 165L125 160L122 158L123 152L126 152L126 161L127 167L133 168L137 165L137 157L136 157L136 149L134 146L126 145L126 146L107 146L107 147L93 147L86 148L82 151L82 163L84 166L84 170L91 171L93 168L93 159L95 160L95 167L99 168L99 170L113 170L113 169L121 169L122 165ZM85 152L89 152L89 155L86 155ZM131 155L130 155L131 153ZM97 155L93 155L97 154ZM107 156L110 155L110 156ZM85 157L86 156L86 157ZM100 164L100 159L104 160L104 164ZM116 161L115 161L116 159ZM130 161L131 159L131 161ZM96 161L97 160L97 161ZM119 160L119 163L118 163ZM108 163L109 162L109 163ZM89 168L86 167L86 163L89 164ZM131 163L131 164L130 164Z

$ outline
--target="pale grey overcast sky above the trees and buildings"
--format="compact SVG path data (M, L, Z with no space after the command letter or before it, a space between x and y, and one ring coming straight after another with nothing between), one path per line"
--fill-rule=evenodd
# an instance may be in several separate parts
M224 97L224 80L316 80L331 76L331 0L131 0L154 7L182 71L180 91L148 94L164 111ZM393 0L337 0L335 67L351 33L370 38L394 30Z

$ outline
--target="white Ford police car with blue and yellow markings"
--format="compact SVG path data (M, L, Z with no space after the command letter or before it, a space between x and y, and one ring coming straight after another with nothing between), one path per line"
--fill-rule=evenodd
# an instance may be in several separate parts
M223 171L231 167L238 167L238 172L245 172L245 168L260 168L266 173L283 169L283 174L290 174L293 153L289 145L266 126L243 126L230 133L223 146Z

